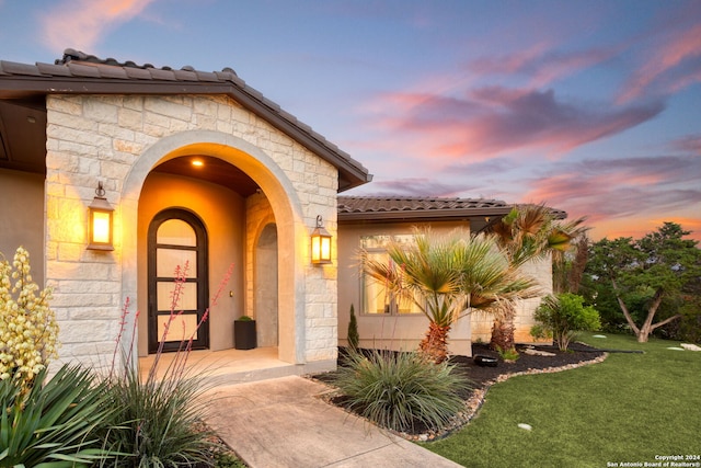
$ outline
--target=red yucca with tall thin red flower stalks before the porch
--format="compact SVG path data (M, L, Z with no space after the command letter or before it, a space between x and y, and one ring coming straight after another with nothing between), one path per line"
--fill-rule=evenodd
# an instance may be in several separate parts
M171 294L171 313L164 323L156 358L146 379L140 378L135 365L131 351L134 336L127 346L120 372L113 372L108 378L111 404L118 408L105 430L106 445L113 452L123 454L113 460L114 466L189 466L206 463L210 459L211 443L207 431L202 430L202 420L206 415L207 400L203 393L208 389L202 379L187 374L186 363L192 343L197 330L207 320L209 309L217 304L223 287L228 283L233 265L229 267L212 297L209 308L205 311L197 329L191 336L184 336L181 345L174 352L164 373L159 376L159 364L163 354L163 343L169 335L170 328L182 322L182 311L177 311L177 304L184 293L184 284L188 265L175 271L175 286ZM129 301L123 309L122 328L117 336L117 349L128 322ZM134 317L134 327L138 311ZM115 350L115 361L116 361ZM112 463L112 460L111 460Z

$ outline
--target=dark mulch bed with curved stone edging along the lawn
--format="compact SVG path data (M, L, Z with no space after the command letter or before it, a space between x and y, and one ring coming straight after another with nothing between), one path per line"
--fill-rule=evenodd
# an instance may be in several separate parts
M568 351L560 351L558 346L538 345L531 346L538 351L544 351L554 354L553 356L540 356L526 354L524 351L527 346L517 345L519 357L513 363L505 363L496 351L492 351L486 344L473 344L472 356L482 355L497 358L496 367L480 366L475 364L473 357L451 356L450 363L456 365L458 372L464 373L472 383L471 388L464 388L460 392L460 397L466 400L466 409L456 415L453 421L440 431L432 431L427 427L416 424L411 433L398 433L398 435L411 441L435 441L443 438L451 432L462 427L470 422L476 414L484 402L489 388L499 381L504 381L516 375L543 374L552 372L562 372L582 365L594 364L606 358L607 353L585 344L573 343ZM341 349L338 353L338 365L344 363L345 350ZM333 373L326 373L312 376L313 378L331 384L333 381ZM349 411L346 406L346 399L343 396L331 396L325 398L331 404L344 408Z

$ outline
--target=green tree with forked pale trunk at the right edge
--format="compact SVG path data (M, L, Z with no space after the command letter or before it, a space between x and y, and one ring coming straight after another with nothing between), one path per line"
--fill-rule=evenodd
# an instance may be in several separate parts
M616 320L616 304L644 343L655 329L681 318L686 305L698 301L701 250L697 241L683 239L689 233L665 222L637 240L602 239L591 246L584 292L599 311L607 309L605 321ZM656 323L655 316L660 317Z

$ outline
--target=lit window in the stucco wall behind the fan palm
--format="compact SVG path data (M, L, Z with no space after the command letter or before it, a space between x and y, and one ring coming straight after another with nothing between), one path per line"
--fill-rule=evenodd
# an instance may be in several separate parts
M367 252L368 258L381 263L390 262L387 253L387 243L390 240L411 246L414 242L412 235L398 236L361 236L360 247ZM361 313L378 315L414 315L422 313L418 306L411 299L398 298L379 281L366 273L360 274Z

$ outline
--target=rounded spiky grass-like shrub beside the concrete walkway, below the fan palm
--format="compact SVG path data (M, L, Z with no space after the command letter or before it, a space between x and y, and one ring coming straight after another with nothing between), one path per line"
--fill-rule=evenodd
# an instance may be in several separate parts
M447 362L435 364L417 353L350 351L334 384L350 410L394 431L417 424L440 429L463 408L458 391L468 379Z

